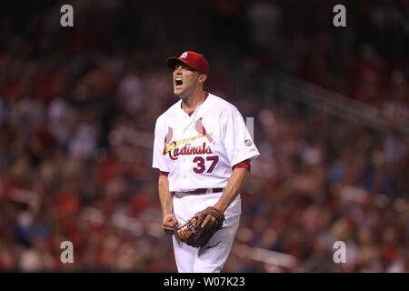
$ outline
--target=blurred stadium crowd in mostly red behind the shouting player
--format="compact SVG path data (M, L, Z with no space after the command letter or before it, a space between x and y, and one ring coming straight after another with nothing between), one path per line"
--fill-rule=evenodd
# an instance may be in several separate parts
M73 1L67 28L61 5L0 4L0 270L176 271L153 132L177 101L165 58L197 50L261 152L224 272L409 272L408 1L357 1L339 30L331 1ZM275 71L374 105L388 132L266 103Z

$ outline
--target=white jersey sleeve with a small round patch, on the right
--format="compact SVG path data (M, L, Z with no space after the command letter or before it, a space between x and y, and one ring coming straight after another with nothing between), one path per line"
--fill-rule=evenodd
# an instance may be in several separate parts
M244 118L237 109L224 117L224 149L231 166L260 156L245 126Z

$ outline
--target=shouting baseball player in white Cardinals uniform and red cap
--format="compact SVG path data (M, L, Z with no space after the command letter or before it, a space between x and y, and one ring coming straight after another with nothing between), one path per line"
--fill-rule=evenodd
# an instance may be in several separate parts
M174 235L178 272L221 272L239 226L240 191L259 152L237 108L205 92L203 55L188 51L166 65L180 100L155 124L162 227Z

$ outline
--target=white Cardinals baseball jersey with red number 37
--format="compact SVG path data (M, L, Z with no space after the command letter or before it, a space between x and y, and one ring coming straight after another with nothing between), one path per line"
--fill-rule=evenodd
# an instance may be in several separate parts
M170 192L224 188L232 166L259 155L243 116L216 95L192 115L181 99L156 120L153 167L169 173Z

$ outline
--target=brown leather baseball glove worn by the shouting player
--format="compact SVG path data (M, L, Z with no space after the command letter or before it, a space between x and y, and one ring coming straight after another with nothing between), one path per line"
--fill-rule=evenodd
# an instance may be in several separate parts
M202 224L206 216L214 216L215 221L210 220L204 228ZM214 233L222 228L224 215L214 207L207 207L195 214L185 225L177 229L177 236L189 246L205 246Z

